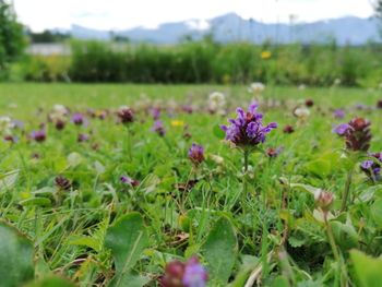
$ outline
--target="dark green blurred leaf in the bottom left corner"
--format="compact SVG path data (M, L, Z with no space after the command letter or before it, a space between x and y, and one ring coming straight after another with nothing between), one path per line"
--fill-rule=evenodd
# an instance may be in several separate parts
M32 242L13 227L0 223L1 286L16 287L34 277Z

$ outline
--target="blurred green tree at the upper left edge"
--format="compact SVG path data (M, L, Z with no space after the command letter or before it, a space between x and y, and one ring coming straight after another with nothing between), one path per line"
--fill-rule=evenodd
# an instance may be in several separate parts
M23 25L17 22L12 4L0 0L0 73L23 53L24 48Z

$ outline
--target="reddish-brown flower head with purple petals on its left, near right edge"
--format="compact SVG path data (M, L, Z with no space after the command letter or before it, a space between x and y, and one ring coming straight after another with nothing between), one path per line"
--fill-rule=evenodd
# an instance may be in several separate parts
M354 118L348 123L342 123L333 132L345 139L346 148L367 152L370 147L370 121L363 118Z

